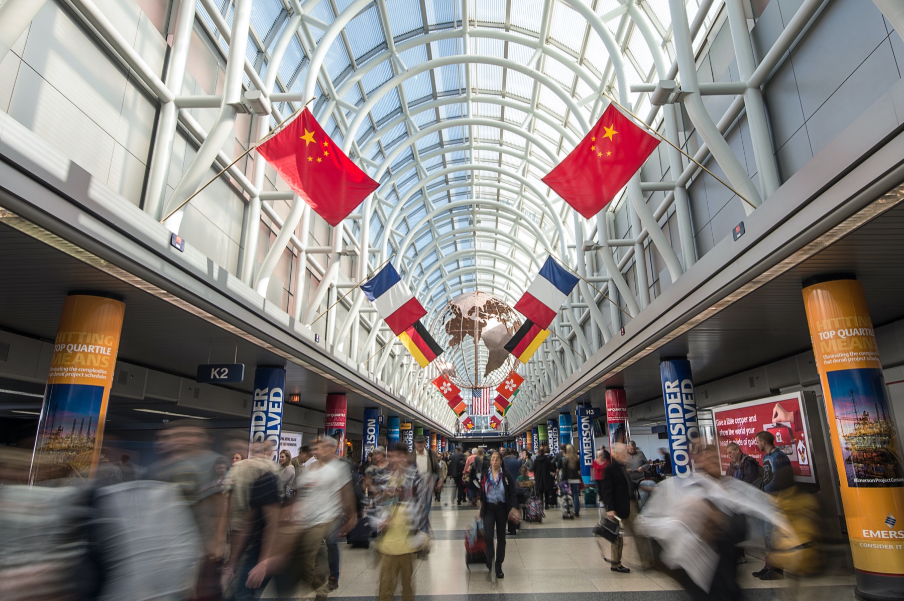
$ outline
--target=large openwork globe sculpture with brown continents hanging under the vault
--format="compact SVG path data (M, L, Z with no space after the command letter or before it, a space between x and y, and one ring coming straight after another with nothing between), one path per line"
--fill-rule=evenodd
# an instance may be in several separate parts
M485 292L468 292L448 301L428 329L446 350L436 362L461 389L495 388L513 369L505 343L521 327L512 307Z

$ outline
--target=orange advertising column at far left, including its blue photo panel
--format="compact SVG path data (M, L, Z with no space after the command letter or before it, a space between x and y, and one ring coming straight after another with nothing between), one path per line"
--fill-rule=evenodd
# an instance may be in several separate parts
M32 483L94 474L107 418L126 305L101 296L67 296L53 343Z

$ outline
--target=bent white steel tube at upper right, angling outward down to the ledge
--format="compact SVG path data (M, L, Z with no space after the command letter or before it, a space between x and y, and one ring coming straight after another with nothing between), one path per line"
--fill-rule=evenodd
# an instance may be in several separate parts
M669 0L669 7L672 10L672 31L678 73L681 77L684 108L731 185L747 199L748 202L740 200L739 202L743 203L744 211L749 215L755 207L761 204L759 193L756 186L750 181L747 169L740 164L729 143L722 137L719 128L712 122L706 108L703 107L700 83L697 80L697 68L693 60L691 29L687 23L687 12L683 0Z

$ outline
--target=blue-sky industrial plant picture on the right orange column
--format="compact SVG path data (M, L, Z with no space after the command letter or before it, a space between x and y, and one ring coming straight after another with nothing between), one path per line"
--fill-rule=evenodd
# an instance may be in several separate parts
M904 485L901 451L882 371L838 370L825 374L844 471L852 488Z

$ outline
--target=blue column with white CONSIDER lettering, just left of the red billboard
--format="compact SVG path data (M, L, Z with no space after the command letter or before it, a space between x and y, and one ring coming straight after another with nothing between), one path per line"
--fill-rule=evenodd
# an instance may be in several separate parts
M698 450L695 447L700 442L691 362L686 359L664 359L659 363L659 373L663 379L673 474L679 478L688 478L697 471L691 455Z

